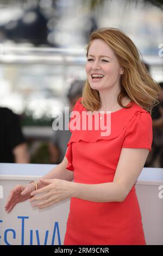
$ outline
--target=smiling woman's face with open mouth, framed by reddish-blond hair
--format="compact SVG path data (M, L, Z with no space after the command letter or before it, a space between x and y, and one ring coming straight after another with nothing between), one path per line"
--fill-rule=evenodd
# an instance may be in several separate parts
M114 51L102 39L92 41L85 70L92 89L100 91L120 86L123 69L118 63Z

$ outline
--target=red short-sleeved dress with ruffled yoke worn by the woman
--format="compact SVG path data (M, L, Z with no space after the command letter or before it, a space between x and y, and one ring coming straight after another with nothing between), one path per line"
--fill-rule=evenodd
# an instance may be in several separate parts
M80 113L80 120L86 111L81 99L73 109ZM66 168L74 171L74 182L78 183L112 182L122 148L151 151L151 114L136 103L111 113L109 136L101 136L100 129L70 131ZM64 245L146 245L135 185L123 202L71 198Z

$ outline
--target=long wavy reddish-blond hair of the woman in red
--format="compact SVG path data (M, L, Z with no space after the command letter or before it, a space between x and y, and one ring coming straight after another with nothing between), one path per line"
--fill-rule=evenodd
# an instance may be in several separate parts
M131 102L137 103L151 113L152 108L159 103L158 96L161 88L147 71L140 58L141 53L133 41L120 29L101 28L91 33L89 44L85 49L86 56L92 41L95 39L102 39L110 46L124 69L120 80L121 92L117 97L118 104L124 108L131 107L131 105L128 107L122 105L123 97L128 96ZM88 80L84 84L82 96L82 104L87 110L93 112L100 108L99 92L90 87Z

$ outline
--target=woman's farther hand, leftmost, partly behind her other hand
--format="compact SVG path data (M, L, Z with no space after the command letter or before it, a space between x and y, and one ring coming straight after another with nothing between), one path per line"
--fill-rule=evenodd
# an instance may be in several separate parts
M32 193L34 190L34 182L27 185L17 185L14 187L9 193L7 203L5 204L5 211L9 213L17 203L21 203L29 199L31 197L30 193Z

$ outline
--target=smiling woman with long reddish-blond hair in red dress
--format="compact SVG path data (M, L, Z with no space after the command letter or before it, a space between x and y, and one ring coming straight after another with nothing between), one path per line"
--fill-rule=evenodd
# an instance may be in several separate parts
M84 127L83 113L111 111L110 133L103 136L95 125L72 130L72 116L64 160L36 181L37 190L35 182L12 189L5 210L31 195L39 209L71 198L64 245L146 245L135 183L151 150L150 112L159 86L134 43L116 28L92 32L85 69L73 111Z

